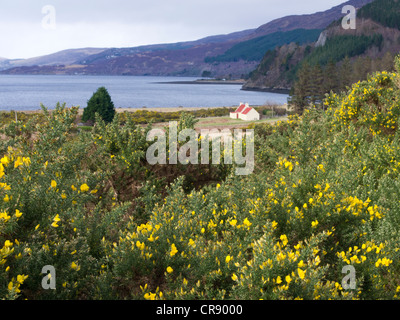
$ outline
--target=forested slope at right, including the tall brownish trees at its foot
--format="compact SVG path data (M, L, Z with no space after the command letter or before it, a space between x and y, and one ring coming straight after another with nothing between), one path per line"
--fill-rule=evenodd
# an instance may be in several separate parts
M344 30L341 20L309 45L284 45L267 51L250 73L244 88L290 91L289 104L302 112L321 105L331 91L339 93L377 71L393 71L400 50L400 4L375 0L357 10L356 30Z

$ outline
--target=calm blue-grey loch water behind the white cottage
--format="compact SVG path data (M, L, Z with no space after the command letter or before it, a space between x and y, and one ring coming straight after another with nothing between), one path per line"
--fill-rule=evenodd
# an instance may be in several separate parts
M0 75L0 110L37 110L57 102L85 108L97 88L104 86L116 108L222 107L287 102L286 94L243 91L241 85L174 84L181 77L30 76ZM163 83L160 83L163 82Z

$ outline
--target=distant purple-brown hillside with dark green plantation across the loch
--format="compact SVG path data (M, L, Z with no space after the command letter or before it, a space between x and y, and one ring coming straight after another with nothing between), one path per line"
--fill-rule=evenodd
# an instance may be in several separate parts
M371 0L350 0L345 4L360 6ZM344 4L343 4L344 5ZM98 75L180 75L242 78L253 71L261 61L265 49L286 43L308 42L303 35L293 37L296 29L323 29L342 16L341 8L336 6L324 12L308 15L292 15L276 19L257 29L238 31L227 35L210 36L196 41L140 46L133 48L109 48L101 52L77 58L57 59L57 63L18 61L0 63L3 74L98 74ZM310 31L312 32L312 31ZM258 46L258 40L274 34L274 41ZM314 38L314 35L312 36ZM243 55L243 46L253 40L256 55ZM244 44L243 44L244 43ZM229 51L234 46L232 51ZM240 49L242 47L242 49ZM228 56L218 61L221 56ZM49 60L43 57L42 61ZM208 62L207 62L208 61ZM11 64L10 64L11 63ZM12 63L17 63L13 65ZM54 66L57 64L58 66ZM42 66L43 65L43 66ZM70 66L73 66L72 68ZM10 68L11 67L11 68ZM7 69L7 70L4 70Z

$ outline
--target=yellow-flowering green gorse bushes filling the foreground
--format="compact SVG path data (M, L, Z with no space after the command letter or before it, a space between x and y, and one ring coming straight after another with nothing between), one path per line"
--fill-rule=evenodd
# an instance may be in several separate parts
M377 73L328 96L326 111L255 125L249 176L150 166L150 127L116 117L76 133L75 108L6 126L0 296L397 299L398 79ZM196 172L207 179L189 187ZM42 288L46 265L57 290Z

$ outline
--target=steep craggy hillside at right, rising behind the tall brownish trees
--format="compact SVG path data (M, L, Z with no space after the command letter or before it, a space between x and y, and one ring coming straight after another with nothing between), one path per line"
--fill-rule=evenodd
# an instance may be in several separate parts
M380 11L384 7L386 9ZM370 15L371 10L373 15ZM330 24L312 45L291 46L290 52L285 48L267 52L243 89L291 90L303 64L324 68L332 62L339 68L346 57L354 68L364 70L355 72L356 78L350 77L345 85L349 85L350 81L363 80L368 73L382 70L382 67L391 69L385 61L393 60L400 52L400 30L391 27L390 23L398 10L395 0L376 0L359 9L355 30L343 29L338 20ZM377 17L378 21L372 17Z

